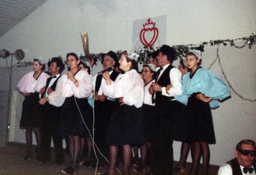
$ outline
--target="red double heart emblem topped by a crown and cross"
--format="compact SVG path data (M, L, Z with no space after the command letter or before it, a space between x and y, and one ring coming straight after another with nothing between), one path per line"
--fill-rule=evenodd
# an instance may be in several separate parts
M158 37L158 29L155 27L156 23L153 23L150 18L147 19L147 23L143 24L143 29L140 31L140 41L144 47L152 47Z

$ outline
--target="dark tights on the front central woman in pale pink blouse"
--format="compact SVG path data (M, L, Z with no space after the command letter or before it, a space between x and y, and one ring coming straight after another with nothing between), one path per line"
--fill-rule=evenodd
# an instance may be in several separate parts
M130 175L132 147L131 145L122 145L123 147L123 173L124 175ZM113 175L116 168L118 155L118 146L110 146L110 165L109 174Z

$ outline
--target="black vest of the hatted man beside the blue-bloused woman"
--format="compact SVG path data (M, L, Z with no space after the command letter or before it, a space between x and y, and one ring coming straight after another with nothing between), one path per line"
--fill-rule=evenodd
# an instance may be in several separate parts
M159 84L160 86L167 86L168 84L170 84L170 70L175 68L173 65L169 65L164 72L162 73L161 77L157 80L157 84ZM160 74L161 70L159 69L157 71L157 78ZM161 104L166 104L166 102L170 101L174 99L174 97L167 97L167 96L163 96L162 92L156 92L156 105L161 105Z

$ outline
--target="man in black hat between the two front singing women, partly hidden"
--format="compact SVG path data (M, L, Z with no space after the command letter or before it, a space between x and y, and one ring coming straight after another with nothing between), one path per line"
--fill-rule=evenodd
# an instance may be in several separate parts
M118 59L117 55L113 51L109 51L106 54L102 54L102 65L103 70L108 70L109 68L113 68L109 71L111 80L115 81L116 77L118 76L118 72L114 70L114 67L118 65ZM106 130L108 128L111 114L114 110L114 106L116 103L113 99L106 97L102 93L102 83L105 83L105 79L102 78L102 72L99 72L93 80L95 95L94 95L94 116L95 116L95 125L94 125L94 141L99 147L101 153L104 156L107 156L109 154L109 147L108 145L104 144L105 136L106 136ZM102 165L103 159L101 156L98 156L100 158L99 165ZM84 164L86 167L90 166L90 162L86 161Z

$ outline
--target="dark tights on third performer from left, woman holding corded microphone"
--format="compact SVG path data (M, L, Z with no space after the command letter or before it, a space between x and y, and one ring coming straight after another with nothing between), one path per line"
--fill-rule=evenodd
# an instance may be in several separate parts
M68 138L71 166L76 169L81 149L80 137L68 135Z

